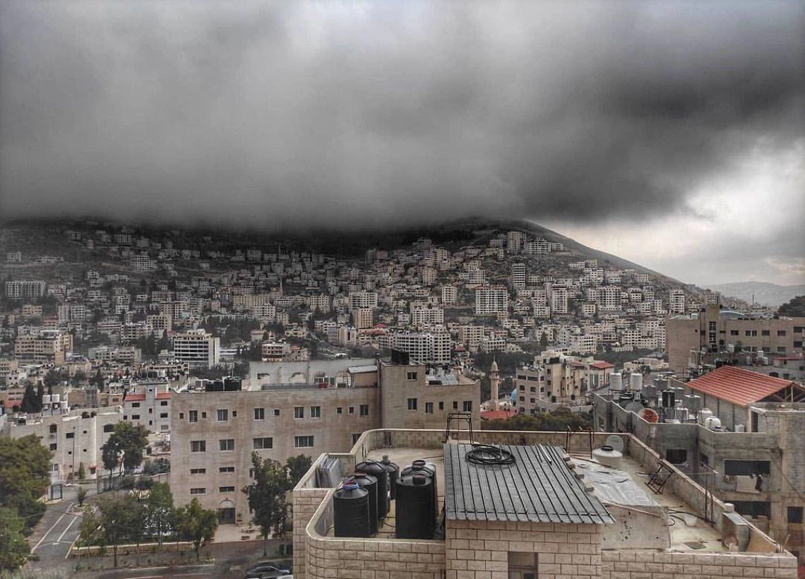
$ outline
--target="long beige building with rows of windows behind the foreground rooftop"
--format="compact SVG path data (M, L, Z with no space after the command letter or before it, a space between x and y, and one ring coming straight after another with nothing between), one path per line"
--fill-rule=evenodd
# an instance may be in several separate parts
M222 523L249 518L251 453L281 462L349 449L386 422L444 428L448 412L474 412L480 383L458 372L374 358L252 362L248 391L188 391L171 399L171 491L198 498ZM412 403L411 400L414 400Z

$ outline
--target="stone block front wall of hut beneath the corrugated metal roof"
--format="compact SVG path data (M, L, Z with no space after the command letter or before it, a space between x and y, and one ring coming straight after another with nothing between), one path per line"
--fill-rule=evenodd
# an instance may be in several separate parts
M448 521L447 579L508 579L509 552L536 552L539 579L592 579L601 573L601 526Z

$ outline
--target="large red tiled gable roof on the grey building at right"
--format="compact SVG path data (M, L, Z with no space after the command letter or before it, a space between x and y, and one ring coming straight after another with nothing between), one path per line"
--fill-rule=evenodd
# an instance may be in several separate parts
M738 406L748 407L749 404L759 402L791 384L796 386L791 380L774 378L735 366L721 366L691 380L686 386Z

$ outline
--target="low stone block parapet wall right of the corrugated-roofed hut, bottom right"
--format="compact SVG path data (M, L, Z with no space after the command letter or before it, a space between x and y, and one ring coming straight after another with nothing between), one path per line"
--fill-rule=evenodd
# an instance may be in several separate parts
M540 576L541 577L541 576ZM602 551L601 579L796 579L796 559L788 553L683 553Z

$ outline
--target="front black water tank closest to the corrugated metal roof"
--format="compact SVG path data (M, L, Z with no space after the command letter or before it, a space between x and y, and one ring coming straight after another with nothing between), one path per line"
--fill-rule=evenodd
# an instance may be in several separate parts
M396 537L398 539L433 539L436 531L436 505L433 481L421 471L397 479Z

